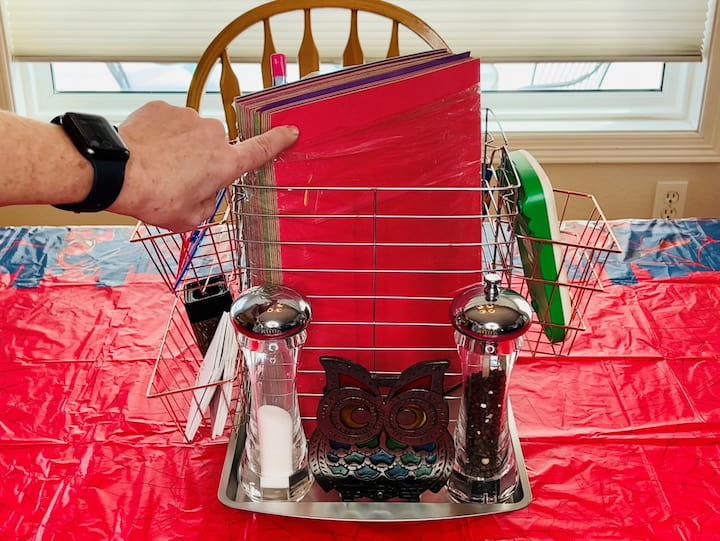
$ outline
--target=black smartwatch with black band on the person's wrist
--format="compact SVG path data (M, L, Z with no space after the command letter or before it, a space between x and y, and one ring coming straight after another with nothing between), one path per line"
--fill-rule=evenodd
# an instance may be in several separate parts
M130 151L117 129L98 115L65 113L52 119L93 166L93 183L88 196L79 203L53 205L73 212L99 212L112 205L125 180Z

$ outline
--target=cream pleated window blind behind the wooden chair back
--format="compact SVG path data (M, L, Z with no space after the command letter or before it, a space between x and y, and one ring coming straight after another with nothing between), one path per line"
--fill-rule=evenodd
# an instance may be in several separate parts
M16 60L194 62L212 38L242 12L264 3L238 0L0 0L6 39ZM453 51L486 62L662 60L702 58L706 21L715 0L395 0L432 26ZM347 11L313 15L324 61L345 46ZM293 57L302 12L278 17L278 51ZM389 24L360 17L368 59L387 49ZM256 27L259 25L256 25ZM257 61L261 28L237 40L234 61ZM401 34L401 52L418 50Z

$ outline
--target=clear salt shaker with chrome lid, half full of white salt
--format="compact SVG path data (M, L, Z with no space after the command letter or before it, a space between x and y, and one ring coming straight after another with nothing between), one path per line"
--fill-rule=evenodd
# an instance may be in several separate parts
M253 501L298 501L312 485L296 388L310 315L307 300L280 285L250 288L230 309L250 378L240 482Z

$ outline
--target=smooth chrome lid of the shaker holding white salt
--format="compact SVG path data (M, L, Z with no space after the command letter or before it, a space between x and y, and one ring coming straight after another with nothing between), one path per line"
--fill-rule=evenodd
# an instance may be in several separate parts
M310 323L310 303L287 286L261 285L244 291L230 307L238 333L256 340L286 338Z

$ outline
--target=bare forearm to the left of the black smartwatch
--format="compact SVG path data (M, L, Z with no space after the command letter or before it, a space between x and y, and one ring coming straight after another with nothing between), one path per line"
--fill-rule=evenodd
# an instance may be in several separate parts
M0 206L82 201L90 162L60 126L0 111Z

